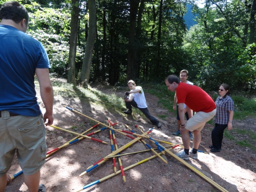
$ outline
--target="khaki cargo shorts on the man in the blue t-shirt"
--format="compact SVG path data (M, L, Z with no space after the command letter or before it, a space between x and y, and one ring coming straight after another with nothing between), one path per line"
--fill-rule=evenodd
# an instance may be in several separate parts
M35 174L44 165L47 152L44 118L0 113L0 177L10 169L15 151L23 173Z

